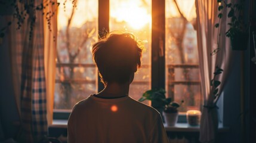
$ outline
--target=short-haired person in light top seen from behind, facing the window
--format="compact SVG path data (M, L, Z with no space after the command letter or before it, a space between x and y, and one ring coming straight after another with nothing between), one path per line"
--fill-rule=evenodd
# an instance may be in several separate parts
M130 33L109 33L92 47L105 88L78 102L70 114L68 141L168 142L158 111L128 96L141 66L142 46Z

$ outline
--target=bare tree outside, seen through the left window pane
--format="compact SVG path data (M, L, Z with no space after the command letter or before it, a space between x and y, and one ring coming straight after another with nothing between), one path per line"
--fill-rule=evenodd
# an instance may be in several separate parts
M92 34L95 32L95 29L87 27L87 30L82 31L82 35L74 35L72 32L74 32L73 27L71 26L73 17L75 15L76 11L76 4L77 1L72 1L73 8L71 11L71 14L67 20L67 26L66 30L64 32L60 32L59 34L64 37L64 43L65 43L65 48L67 50L67 55L69 59L69 66L68 66L68 71L66 70L61 70L61 61L60 59L60 53L57 52L57 62L60 63L60 66L58 66L58 71L59 73L63 74L63 79L61 79L61 87L63 89L63 95L64 95L64 103L65 105L61 105L61 108L72 108L71 105L71 97L72 97L72 91L73 91L73 86L72 82L74 80L74 68L75 66L72 65L75 63L76 58L78 58L78 55L81 52L82 48L87 48L85 47L85 43L91 38ZM78 30L83 30L82 28ZM76 32L78 31L76 29ZM79 37L78 37L79 36ZM76 39L76 41L73 41L72 39ZM74 52L75 51L75 52ZM86 56L87 54L84 54Z

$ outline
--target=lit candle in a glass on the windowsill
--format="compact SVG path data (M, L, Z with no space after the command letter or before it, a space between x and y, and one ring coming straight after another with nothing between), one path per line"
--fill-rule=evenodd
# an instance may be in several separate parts
M191 126L198 126L201 119L201 111L189 110L187 111L187 123Z

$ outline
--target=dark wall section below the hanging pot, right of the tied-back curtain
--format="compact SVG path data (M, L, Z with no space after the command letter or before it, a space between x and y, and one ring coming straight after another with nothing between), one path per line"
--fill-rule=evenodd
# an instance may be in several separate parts
M240 53L234 52L232 69L224 86L223 126L229 132L220 136L221 142L240 142Z

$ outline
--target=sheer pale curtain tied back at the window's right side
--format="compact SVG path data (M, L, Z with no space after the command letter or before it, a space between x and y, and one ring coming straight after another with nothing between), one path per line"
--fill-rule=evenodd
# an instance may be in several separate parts
M199 65L204 99L199 138L201 142L215 142L218 129L216 106L218 97L215 98L210 81L214 76L213 73L216 66L224 70L220 76L217 76L217 79L221 82L220 93L223 89L227 73L229 73L228 69L230 69L229 66L232 58L230 41L225 35L228 20L223 16L218 21L217 15L219 12L217 8L217 0L196 0ZM227 11L224 9L223 15L226 14ZM218 29L214 27L215 23L220 23L220 35L218 35ZM214 50L217 52L211 55L211 52Z

